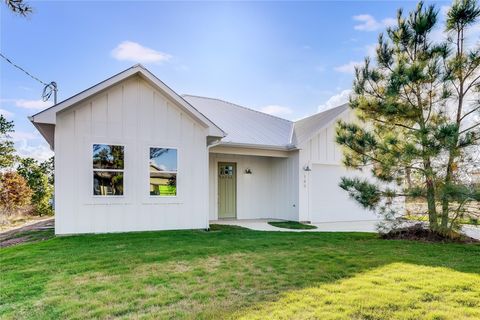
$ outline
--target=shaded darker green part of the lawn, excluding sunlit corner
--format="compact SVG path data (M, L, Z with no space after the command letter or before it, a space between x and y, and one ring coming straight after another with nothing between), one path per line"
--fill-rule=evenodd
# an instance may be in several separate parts
M323 288L335 295L337 284L376 270L388 276L405 268L419 281L427 273L409 266L480 272L479 245L213 229L60 237L2 249L0 317L254 317L290 293Z

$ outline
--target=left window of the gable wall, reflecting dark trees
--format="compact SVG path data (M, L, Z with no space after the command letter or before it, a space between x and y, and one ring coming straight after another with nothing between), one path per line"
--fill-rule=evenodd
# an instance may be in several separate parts
M93 195L123 196L124 147L93 145Z

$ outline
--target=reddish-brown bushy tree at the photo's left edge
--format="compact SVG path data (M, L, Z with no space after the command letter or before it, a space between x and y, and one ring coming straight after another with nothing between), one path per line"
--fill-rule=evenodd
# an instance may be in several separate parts
M0 173L0 214L2 218L30 204L32 190L25 179L14 171Z

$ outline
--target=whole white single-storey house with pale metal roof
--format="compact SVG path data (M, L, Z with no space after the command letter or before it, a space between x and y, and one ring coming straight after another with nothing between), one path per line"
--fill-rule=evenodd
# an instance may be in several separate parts
M335 122L180 96L135 65L33 115L55 151L56 234L208 228L210 220L360 221L338 187Z

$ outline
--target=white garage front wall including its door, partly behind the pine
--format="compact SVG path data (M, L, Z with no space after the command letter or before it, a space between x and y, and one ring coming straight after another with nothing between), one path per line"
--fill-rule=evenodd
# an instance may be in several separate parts
M361 208L353 199L348 197L346 191L341 189L340 176L346 172L342 165L342 150L335 142L335 126L337 120L353 121L354 114L348 110L339 116L329 126L317 132L309 140L299 146L299 220L312 222L325 221L360 221L374 220L377 217L371 212ZM312 171L304 171L309 166ZM325 166L328 166L327 169ZM315 174L315 170L330 170L340 175L329 174L322 176ZM343 171L343 172L342 172ZM365 176L362 173L345 173L345 175ZM314 180L315 179L315 180ZM319 203L319 195L322 190L328 190L330 198L325 200L325 205ZM337 190L337 191L332 191ZM327 203L328 201L328 203ZM341 215L333 217L330 208L335 207Z

